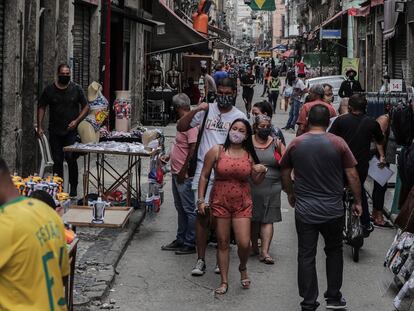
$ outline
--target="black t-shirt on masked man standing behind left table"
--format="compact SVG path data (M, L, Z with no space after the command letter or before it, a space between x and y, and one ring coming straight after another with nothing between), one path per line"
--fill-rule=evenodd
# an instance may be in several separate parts
M56 135L66 135L68 125L79 116L80 109L88 104L82 87L70 82L64 90L54 83L48 85L39 99L40 107L49 106L49 131Z

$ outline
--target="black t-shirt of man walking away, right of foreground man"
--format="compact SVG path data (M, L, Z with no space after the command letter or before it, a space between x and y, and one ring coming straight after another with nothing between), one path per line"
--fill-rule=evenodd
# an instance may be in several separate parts
M329 130L342 137L358 161L357 170L362 176L368 173L372 140L381 143L384 135L377 121L365 115L347 113L339 116Z

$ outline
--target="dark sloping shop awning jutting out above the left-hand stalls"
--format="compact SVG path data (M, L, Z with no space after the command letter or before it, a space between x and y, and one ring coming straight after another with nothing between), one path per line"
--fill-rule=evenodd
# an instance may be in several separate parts
M165 34L152 34L151 53L194 52L208 53L210 42L192 25L168 7L165 0L153 1L153 18L165 23Z

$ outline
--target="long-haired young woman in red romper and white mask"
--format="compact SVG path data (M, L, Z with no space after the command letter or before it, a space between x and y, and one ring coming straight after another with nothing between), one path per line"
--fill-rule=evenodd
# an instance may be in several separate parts
M247 275L247 259L250 254L250 219L252 199L249 180L260 183L267 172L264 165L258 164L252 142L252 129L248 121L237 119L230 126L224 145L216 145L206 154L198 186L198 213L206 214L211 207L216 218L217 259L221 283L216 294L225 294L228 289L230 230L233 226L238 255L241 286L250 287ZM212 169L215 180L210 202L205 202L205 192Z

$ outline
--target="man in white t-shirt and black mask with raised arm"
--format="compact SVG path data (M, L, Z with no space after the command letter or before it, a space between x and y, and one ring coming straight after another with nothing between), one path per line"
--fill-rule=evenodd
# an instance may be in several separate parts
M200 145L197 154L197 168L193 178L194 195L198 202L198 182L200 179L201 170L204 164L204 157L206 153L217 144L224 144L227 138L228 131L234 120L242 118L246 119L246 115L233 106L233 94L236 85L233 80L224 78L219 80L217 85L217 98L212 104L202 103L196 109L192 110L177 123L177 130L185 132L190 128L200 126L199 131L202 132ZM204 129L201 128L203 120L208 111L207 119ZM205 201L209 202L210 191L213 185L214 175L211 174ZM202 216L201 216L202 217ZM196 245L198 260L196 266L192 271L192 275L200 276L205 273L205 252L207 248L208 230L202 226L200 216L197 216L196 221Z

